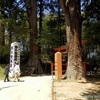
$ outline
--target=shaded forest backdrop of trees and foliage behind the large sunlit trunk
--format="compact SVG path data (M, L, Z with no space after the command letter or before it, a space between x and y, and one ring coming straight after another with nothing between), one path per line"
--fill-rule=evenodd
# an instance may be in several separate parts
M94 60L91 53L96 62L100 62L99 4L99 0L81 0L80 4L81 36L86 41L82 59L86 62ZM0 1L0 64L9 63L10 45L14 41L21 44L20 63L25 74L50 73L53 48L67 45L65 18L59 0ZM66 61L64 56L63 59Z

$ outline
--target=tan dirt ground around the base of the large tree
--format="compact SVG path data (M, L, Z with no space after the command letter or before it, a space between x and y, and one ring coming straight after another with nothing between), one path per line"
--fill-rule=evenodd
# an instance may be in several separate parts
M86 82L54 80L52 100L100 100L99 77L88 77Z

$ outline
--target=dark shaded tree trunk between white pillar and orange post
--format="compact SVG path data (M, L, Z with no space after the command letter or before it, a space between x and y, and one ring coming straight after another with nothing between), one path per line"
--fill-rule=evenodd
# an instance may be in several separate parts
M33 67L31 73L38 71L43 73L42 66L38 59L38 46L35 44L37 36L37 7L36 0L25 0L30 28L30 57L28 66Z

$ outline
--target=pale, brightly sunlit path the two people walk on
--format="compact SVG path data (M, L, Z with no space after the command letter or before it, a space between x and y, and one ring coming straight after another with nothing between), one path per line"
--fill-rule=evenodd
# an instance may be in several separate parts
M21 82L0 81L0 100L52 100L52 76L20 79Z

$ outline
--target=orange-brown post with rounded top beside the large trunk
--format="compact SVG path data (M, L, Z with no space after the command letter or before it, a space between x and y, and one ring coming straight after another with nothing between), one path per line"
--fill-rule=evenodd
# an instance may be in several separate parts
M60 52L55 53L55 79L62 79L62 54Z

